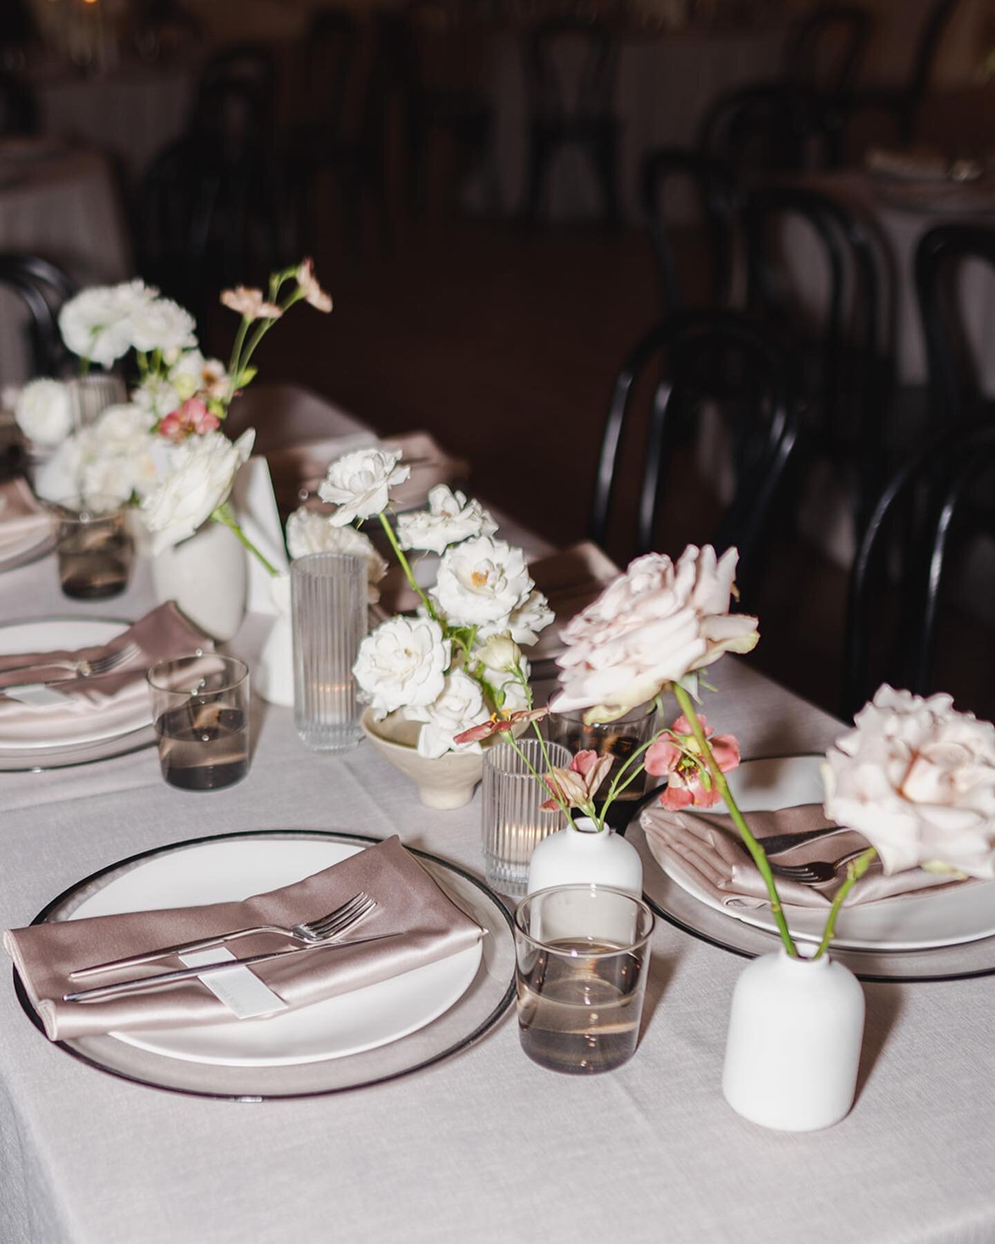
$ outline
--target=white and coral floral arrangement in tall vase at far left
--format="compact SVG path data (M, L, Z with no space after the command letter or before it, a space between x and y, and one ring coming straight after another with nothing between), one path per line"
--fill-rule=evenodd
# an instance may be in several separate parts
M67 348L83 374L133 355L137 384L129 401L111 406L88 427L72 430L70 391L51 378L31 381L15 401L15 418L36 444L57 447L39 476L56 500L80 491L138 508L152 552L179 544L208 521L231 527L271 575L276 569L246 539L229 494L248 460L255 433L224 434L233 399L251 383L251 360L264 336L297 302L331 311L311 260L274 272L267 290L238 286L221 294L240 323L228 367L205 358L193 316L143 281L86 289L58 316Z

